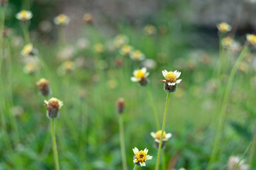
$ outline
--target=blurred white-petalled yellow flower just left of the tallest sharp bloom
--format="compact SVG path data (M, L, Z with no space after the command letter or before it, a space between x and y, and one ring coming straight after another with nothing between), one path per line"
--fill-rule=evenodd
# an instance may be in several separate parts
M142 69L136 69L133 72L133 76L131 77L130 80L134 81L134 82L139 82L141 86L146 86L148 84L148 75L150 73L147 72L147 69L145 67L143 67Z

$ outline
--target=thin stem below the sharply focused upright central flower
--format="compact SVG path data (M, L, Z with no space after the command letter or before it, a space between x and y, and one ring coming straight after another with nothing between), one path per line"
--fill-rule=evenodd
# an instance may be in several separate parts
M162 120L162 133L161 133L160 143L159 143L159 146L158 146L157 164L155 164L155 170L158 170L158 169L159 169L160 153L161 153L161 149L162 149L162 137L163 137L163 135L164 135L163 132L165 132L165 122L166 122L166 117L167 117L169 96L170 96L170 93L167 93L166 104L165 104L165 114L164 114L164 118L163 118L163 120Z

